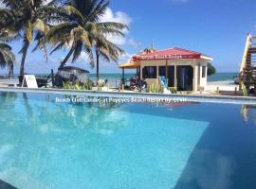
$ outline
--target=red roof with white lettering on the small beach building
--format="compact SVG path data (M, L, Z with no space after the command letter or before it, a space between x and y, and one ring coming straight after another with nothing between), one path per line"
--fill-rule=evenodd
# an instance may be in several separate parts
M181 60L181 59L208 59L209 56L203 55L202 53L186 50L182 48L170 48L166 50L159 50L152 53L141 53L133 57L133 60Z

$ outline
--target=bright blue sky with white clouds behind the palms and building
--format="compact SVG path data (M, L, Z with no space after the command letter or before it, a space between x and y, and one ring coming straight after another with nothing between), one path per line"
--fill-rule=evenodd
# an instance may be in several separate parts
M125 38L112 38L126 51L119 62L149 47L182 47L210 55L218 72L238 72L247 33L256 34L255 0L111 0L104 21L130 26ZM17 54L21 43L12 43ZM49 73L57 69L67 53L59 51L46 63L43 53L27 55L27 73ZM18 55L18 54L17 54ZM19 70L18 55L15 71ZM76 65L89 69L86 56ZM101 73L120 73L115 63L101 61ZM4 71L0 71L4 72Z

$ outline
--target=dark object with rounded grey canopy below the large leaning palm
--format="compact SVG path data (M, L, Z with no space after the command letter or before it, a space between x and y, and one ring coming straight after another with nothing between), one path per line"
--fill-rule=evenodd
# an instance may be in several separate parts
M77 81L84 83L89 80L90 73L87 70L74 66L64 66L58 69L58 73L54 77L54 86L63 87L64 82L75 84Z

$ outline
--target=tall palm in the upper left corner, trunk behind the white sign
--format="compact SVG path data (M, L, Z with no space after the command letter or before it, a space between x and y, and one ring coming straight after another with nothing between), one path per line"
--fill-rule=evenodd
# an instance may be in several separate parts
M29 45L36 40L34 50L43 49L46 52L44 36L49 30L46 22L50 21L49 9L56 0L46 4L46 0L1 0L5 9L0 9L0 28L5 33L16 33L23 40L19 53L22 54L20 76L24 75L25 61Z

